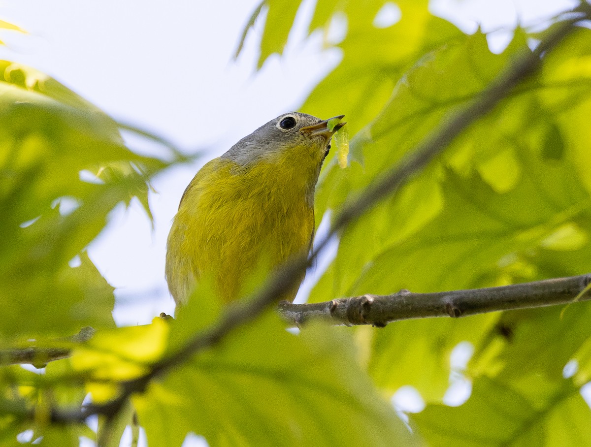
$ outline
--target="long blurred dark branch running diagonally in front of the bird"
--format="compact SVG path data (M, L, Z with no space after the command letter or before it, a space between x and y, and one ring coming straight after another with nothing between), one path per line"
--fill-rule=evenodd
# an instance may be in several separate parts
M583 12L584 14L582 14ZM230 332L259 317L265 309L301 278L301 274L311 265L313 259L326 247L336 233L345 229L349 223L361 216L379 200L396 190L404 182L407 182L420 169L426 167L463 130L492 110L520 81L530 76L539 66L545 52L551 50L573 31L577 22L591 18L591 6L580 5L579 8L573 10L573 13L571 17L551 28L534 51L524 49L522 56L515 59L493 81L488 89L483 90L472 105L467 106L454 115L453 118L444 122L399 166L386 172L382 180L368 187L356 200L345 205L342 211L337 214L329 234L320 240L309 258L301 257L293 260L288 265L280 267L274 275L271 275L268 282L261 287L258 293L255 293L250 299L233 303L220 317L219 321L196 334L177 353L171 354L169 357L165 357L152 365L150 371L144 376L121 383L121 391L115 399L103 404L89 404L82 409L63 410L56 408L51 410L51 420L53 422L73 423L82 422L86 417L95 414L113 416L121 410L131 394L144 391L152 379L167 373L171 368L183 363L192 355L217 344ZM28 416L34 415L31 413Z

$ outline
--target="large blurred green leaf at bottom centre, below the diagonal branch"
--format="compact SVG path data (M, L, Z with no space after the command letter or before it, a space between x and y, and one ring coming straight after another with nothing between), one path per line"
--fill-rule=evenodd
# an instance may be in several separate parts
M194 432L210 445L413 445L350 346L342 329L292 335L268 314L135 397L148 443Z

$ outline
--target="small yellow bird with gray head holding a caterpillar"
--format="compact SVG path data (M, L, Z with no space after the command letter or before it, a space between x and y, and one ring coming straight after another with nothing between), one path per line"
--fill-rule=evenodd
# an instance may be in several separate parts
M165 276L177 306L204 278L228 304L261 263L277 267L309 252L316 183L343 118L285 113L197 172L167 239ZM302 280L280 298L293 301Z

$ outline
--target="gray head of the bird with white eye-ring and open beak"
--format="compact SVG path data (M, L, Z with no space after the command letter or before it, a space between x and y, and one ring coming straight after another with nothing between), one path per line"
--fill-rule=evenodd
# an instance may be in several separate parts
M335 118L343 118L337 116ZM322 120L306 113L290 112L272 119L232 146L222 158L229 158L239 165L247 165L261 159L281 154L286 149L317 149L320 163L329 152L330 138L345 123L328 128L329 120Z

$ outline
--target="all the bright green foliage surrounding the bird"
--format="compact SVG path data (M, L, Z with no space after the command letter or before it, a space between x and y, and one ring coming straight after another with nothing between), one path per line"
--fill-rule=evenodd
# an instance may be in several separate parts
M400 20L376 27L384 4L319 0L311 18L310 33L326 34L335 17L347 31L342 42L326 43L342 61L301 111L343 113L352 135L348 153L332 151L325 163L317 222L478 99L546 32L517 28L494 54L485 34L460 31L426 1L398 1ZM282 53L298 6L266 0L256 10L249 25L265 20L259 66ZM310 301L591 272L589 116L591 30L580 27L492 113L340 234ZM79 407L87 393L108 401L120 381L145 373L219 315L204 285L173 325L155 319L115 328L113 289L85 253L119 203L135 198L150 218L150 179L184 157L174 148L163 147L160 158L131 151L105 113L9 61L0 63L0 122L0 348L34 340L73 349L43 374L0 367L0 446L26 430L33 431L20 436L24 444L77 446L96 433L52 423L52 408ZM150 446L181 445L190 432L210 445L591 445L591 410L580 393L591 379L591 303L561 310L383 329L313 325L299 335L268 312L153 380L132 406ZM64 338L84 325L98 329L92 340ZM453 370L450 354L460 342L473 355ZM472 393L446 406L457 377L472 382ZM410 415L412 434L387 400L405 385L426 402ZM119 445L132 413L109 425L105 445Z

